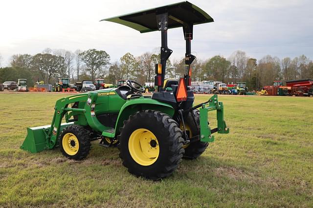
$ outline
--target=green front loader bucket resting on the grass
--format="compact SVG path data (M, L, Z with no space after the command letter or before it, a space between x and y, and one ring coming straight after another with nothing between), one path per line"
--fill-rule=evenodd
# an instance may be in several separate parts
M72 124L73 123L61 124L60 131ZM50 127L50 125L43 125L27 128L27 136L20 148L31 153L37 153L48 149L46 135L48 134Z

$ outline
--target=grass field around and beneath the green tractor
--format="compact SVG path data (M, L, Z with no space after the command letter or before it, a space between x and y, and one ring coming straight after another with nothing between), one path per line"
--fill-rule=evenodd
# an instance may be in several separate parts
M313 207L313 98L220 96L230 133L153 182L97 141L80 162L20 150L26 127L50 124L63 96L0 93L0 207Z

